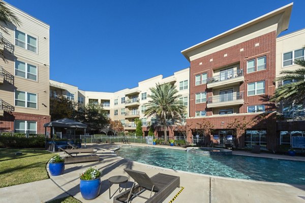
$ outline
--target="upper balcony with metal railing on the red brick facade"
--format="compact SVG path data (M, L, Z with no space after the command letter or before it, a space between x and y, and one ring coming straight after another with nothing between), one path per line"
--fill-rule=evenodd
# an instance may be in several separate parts
M221 72L219 75L207 79L207 88L222 88L225 86L238 85L243 83L245 79L243 78L242 70L227 70Z

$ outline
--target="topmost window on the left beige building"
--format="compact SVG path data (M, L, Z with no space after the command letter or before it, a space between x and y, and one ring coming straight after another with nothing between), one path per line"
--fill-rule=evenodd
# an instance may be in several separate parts
M36 38L29 36L21 31L15 30L15 45L29 51L37 52Z

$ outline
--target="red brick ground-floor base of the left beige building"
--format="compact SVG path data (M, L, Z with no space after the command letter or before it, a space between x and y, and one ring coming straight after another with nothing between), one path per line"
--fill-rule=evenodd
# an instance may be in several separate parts
M36 121L37 133L44 134L45 128L43 125L50 122L50 116L24 114L18 112L4 112L4 116L0 117L0 130L1 131L14 131L14 120Z

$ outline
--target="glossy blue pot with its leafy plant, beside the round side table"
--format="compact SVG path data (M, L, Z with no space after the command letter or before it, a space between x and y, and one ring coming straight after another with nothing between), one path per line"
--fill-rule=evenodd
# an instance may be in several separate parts
M84 199L96 198L101 190L101 172L89 167L80 174L80 193Z

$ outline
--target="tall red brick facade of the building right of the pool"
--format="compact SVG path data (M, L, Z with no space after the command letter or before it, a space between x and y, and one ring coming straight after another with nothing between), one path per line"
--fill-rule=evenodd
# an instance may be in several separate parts
M258 46L256 46L258 45ZM240 51L243 49L243 51ZM225 56L226 55L226 56ZM224 57L225 56L225 57ZM266 69L247 74L247 61L266 56ZM210 60L212 59L212 61ZM272 31L260 37L249 41L236 44L235 46L223 49L221 51L206 55L204 57L191 61L190 67L190 117L195 117L196 111L206 111L206 116L212 116L212 108L207 108L206 103L195 104L196 93L206 92L207 98L213 96L212 88L207 88L206 84L195 85L195 76L207 73L207 78L212 77L213 71L226 67L231 64L239 64L240 70L243 70L245 82L239 85L239 92L243 92L244 104L239 106L239 113L247 113L247 107L252 105L266 104L262 101L261 95L248 96L248 84L253 82L265 81L265 94L272 95L275 92L276 78L276 31ZM225 108L224 108L225 109ZM269 106L265 106L265 110L271 110ZM214 129L227 129L228 123L232 123L236 118L242 120L255 119L257 115L238 115L234 116L217 116L217 117L201 117L187 119L187 126L200 123L203 119L207 119ZM272 121L272 122L271 122ZM276 122L270 118L260 120L254 123L250 129L267 130L269 138L275 138ZM268 123L268 124L267 124ZM189 129L188 139L191 141L192 131ZM243 141L243 139L241 139ZM270 141L271 142L271 141ZM267 146L268 146L267 141ZM242 147L243 144L240 145Z

